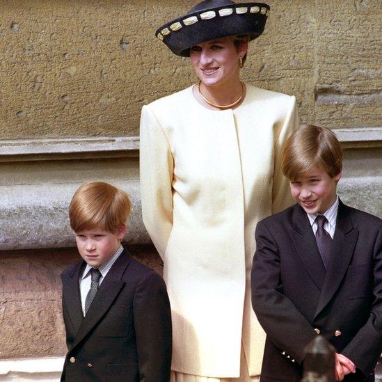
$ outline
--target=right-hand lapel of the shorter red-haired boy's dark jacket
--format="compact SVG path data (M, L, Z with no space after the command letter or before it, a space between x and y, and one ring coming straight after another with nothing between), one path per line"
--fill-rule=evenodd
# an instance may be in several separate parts
M106 311L109 310L123 285L125 285L125 282L122 281L122 276L130 261L131 258L124 250L113 266L111 266L111 269L102 281L86 316L83 317L81 326L79 326L79 330L74 339L72 349L83 340L89 331L94 328L98 321L104 316Z

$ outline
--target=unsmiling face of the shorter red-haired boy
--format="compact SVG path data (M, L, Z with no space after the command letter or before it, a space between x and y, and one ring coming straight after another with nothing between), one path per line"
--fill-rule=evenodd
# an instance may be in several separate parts
M97 228L75 232L79 254L90 266L97 268L116 253L125 233L125 225L115 233Z

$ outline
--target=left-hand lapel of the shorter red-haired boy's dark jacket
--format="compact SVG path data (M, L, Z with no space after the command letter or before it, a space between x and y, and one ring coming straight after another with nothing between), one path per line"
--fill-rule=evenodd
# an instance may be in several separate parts
M83 272L86 262L79 262L68 276L63 276L63 299L67 313L72 321L75 335L83 320L81 294L79 292L79 275Z

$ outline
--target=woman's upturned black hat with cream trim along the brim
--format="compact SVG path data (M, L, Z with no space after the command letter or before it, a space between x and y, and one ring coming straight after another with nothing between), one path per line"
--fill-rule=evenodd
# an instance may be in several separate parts
M205 0L186 15L161 26L155 35L173 53L188 57L190 47L200 42L229 35L248 35L250 40L259 37L269 9L265 3Z

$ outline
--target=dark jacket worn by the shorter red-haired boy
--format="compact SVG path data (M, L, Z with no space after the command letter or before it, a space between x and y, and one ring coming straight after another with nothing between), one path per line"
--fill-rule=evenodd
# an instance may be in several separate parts
M85 266L77 262L61 275L69 349L61 381L168 382L172 337L164 280L124 251L83 317L79 277Z

